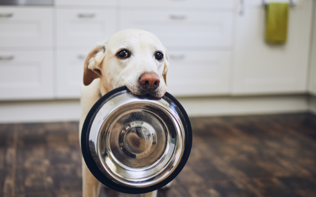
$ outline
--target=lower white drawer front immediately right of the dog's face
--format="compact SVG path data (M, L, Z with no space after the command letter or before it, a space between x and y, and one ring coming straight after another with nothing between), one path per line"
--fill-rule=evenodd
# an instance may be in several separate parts
M169 52L168 92L175 96L229 91L230 52Z

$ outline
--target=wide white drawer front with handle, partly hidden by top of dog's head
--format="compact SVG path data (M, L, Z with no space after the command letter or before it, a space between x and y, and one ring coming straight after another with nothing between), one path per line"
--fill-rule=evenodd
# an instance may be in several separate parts
M121 11L120 29L154 33L164 46L229 47L232 13Z

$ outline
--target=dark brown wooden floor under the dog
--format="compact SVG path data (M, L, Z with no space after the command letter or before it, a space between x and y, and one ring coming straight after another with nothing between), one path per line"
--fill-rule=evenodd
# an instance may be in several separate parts
M159 197L316 197L316 116L191 121L189 161ZM80 197L78 123L0 125L0 196Z

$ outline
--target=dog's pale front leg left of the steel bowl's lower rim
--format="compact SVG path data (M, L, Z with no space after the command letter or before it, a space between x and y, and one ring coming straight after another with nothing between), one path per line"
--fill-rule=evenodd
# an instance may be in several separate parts
M82 197L98 197L100 186L82 158Z

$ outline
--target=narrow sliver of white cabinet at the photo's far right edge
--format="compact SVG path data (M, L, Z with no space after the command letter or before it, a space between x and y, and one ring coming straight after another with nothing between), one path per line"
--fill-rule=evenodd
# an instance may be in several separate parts
M316 3L314 3L314 30L311 48L311 67L309 71L309 92L316 96Z

